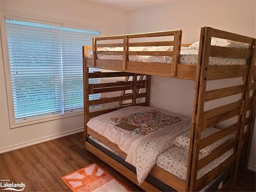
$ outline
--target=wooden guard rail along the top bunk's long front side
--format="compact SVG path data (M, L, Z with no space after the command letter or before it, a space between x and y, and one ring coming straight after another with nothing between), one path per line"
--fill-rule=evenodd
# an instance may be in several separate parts
M144 38L144 37L162 37L162 36L174 36L174 40L169 41L150 41L150 42L130 42L133 38ZM153 33L139 33L139 34L127 34L127 35L116 35L116 36L105 36L105 37L94 37L92 40L93 50L93 67L96 67L96 59L98 54L108 55L122 55L122 71L127 70L127 61L129 61L129 55L148 55L148 56L172 56L173 61L170 65L169 75L176 76L177 63L181 49L181 37L182 31L162 31ZM116 40L122 39L122 43L108 43L99 44L98 41L103 40ZM173 46L173 51L131 51L131 47L149 47L149 46ZM98 51L97 48L104 47L120 47L122 51Z

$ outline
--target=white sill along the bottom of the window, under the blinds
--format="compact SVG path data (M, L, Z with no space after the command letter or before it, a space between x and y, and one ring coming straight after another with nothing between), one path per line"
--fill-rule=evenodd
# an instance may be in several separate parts
M99 109L92 109L90 110L90 112L98 111L98 110L102 110L102 106ZM28 117L27 119L15 120L15 123L10 127L10 129L15 129L22 126L27 126L27 125L52 121L56 119L61 119L61 118L82 115L82 114L84 114L83 109L78 109L78 110L73 110L65 113L56 113L56 114L38 115L36 117Z

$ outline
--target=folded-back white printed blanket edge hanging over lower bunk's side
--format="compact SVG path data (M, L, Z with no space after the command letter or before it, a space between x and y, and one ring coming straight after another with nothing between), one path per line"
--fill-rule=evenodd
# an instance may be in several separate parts
M127 152L126 162L136 167L137 179L141 184L156 164L157 157L172 147L176 137L189 131L189 119L167 126L135 140Z

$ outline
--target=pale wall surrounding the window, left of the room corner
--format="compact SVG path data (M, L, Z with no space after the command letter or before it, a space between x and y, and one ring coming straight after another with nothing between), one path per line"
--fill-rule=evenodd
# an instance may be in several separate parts
M97 25L102 35L126 33L127 13L84 1L0 1L2 9L53 17L81 25ZM105 16L104 16L105 15ZM2 47L2 46L1 46ZM81 131L83 116L62 118L10 130L2 50L0 50L0 150L7 151L74 131ZM57 134L57 135L56 135Z

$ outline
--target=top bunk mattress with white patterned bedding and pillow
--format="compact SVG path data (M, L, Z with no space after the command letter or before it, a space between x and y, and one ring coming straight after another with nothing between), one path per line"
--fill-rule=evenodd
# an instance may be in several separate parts
M249 49L249 44L242 42L231 41L226 39L212 38L211 45L230 47L238 49ZM189 47L181 47L179 63L196 65L198 59L199 41L194 42ZM106 47L98 48L97 51L123 51L121 47ZM158 47L130 47L129 51L173 51L173 46L158 46ZM92 53L88 58L93 58ZM105 55L97 54L98 59L102 60L123 60L123 55ZM145 56L145 55L130 55L129 61L139 62L161 62L172 63L172 56ZM228 57L210 57L209 65L246 65L245 58L228 58Z

